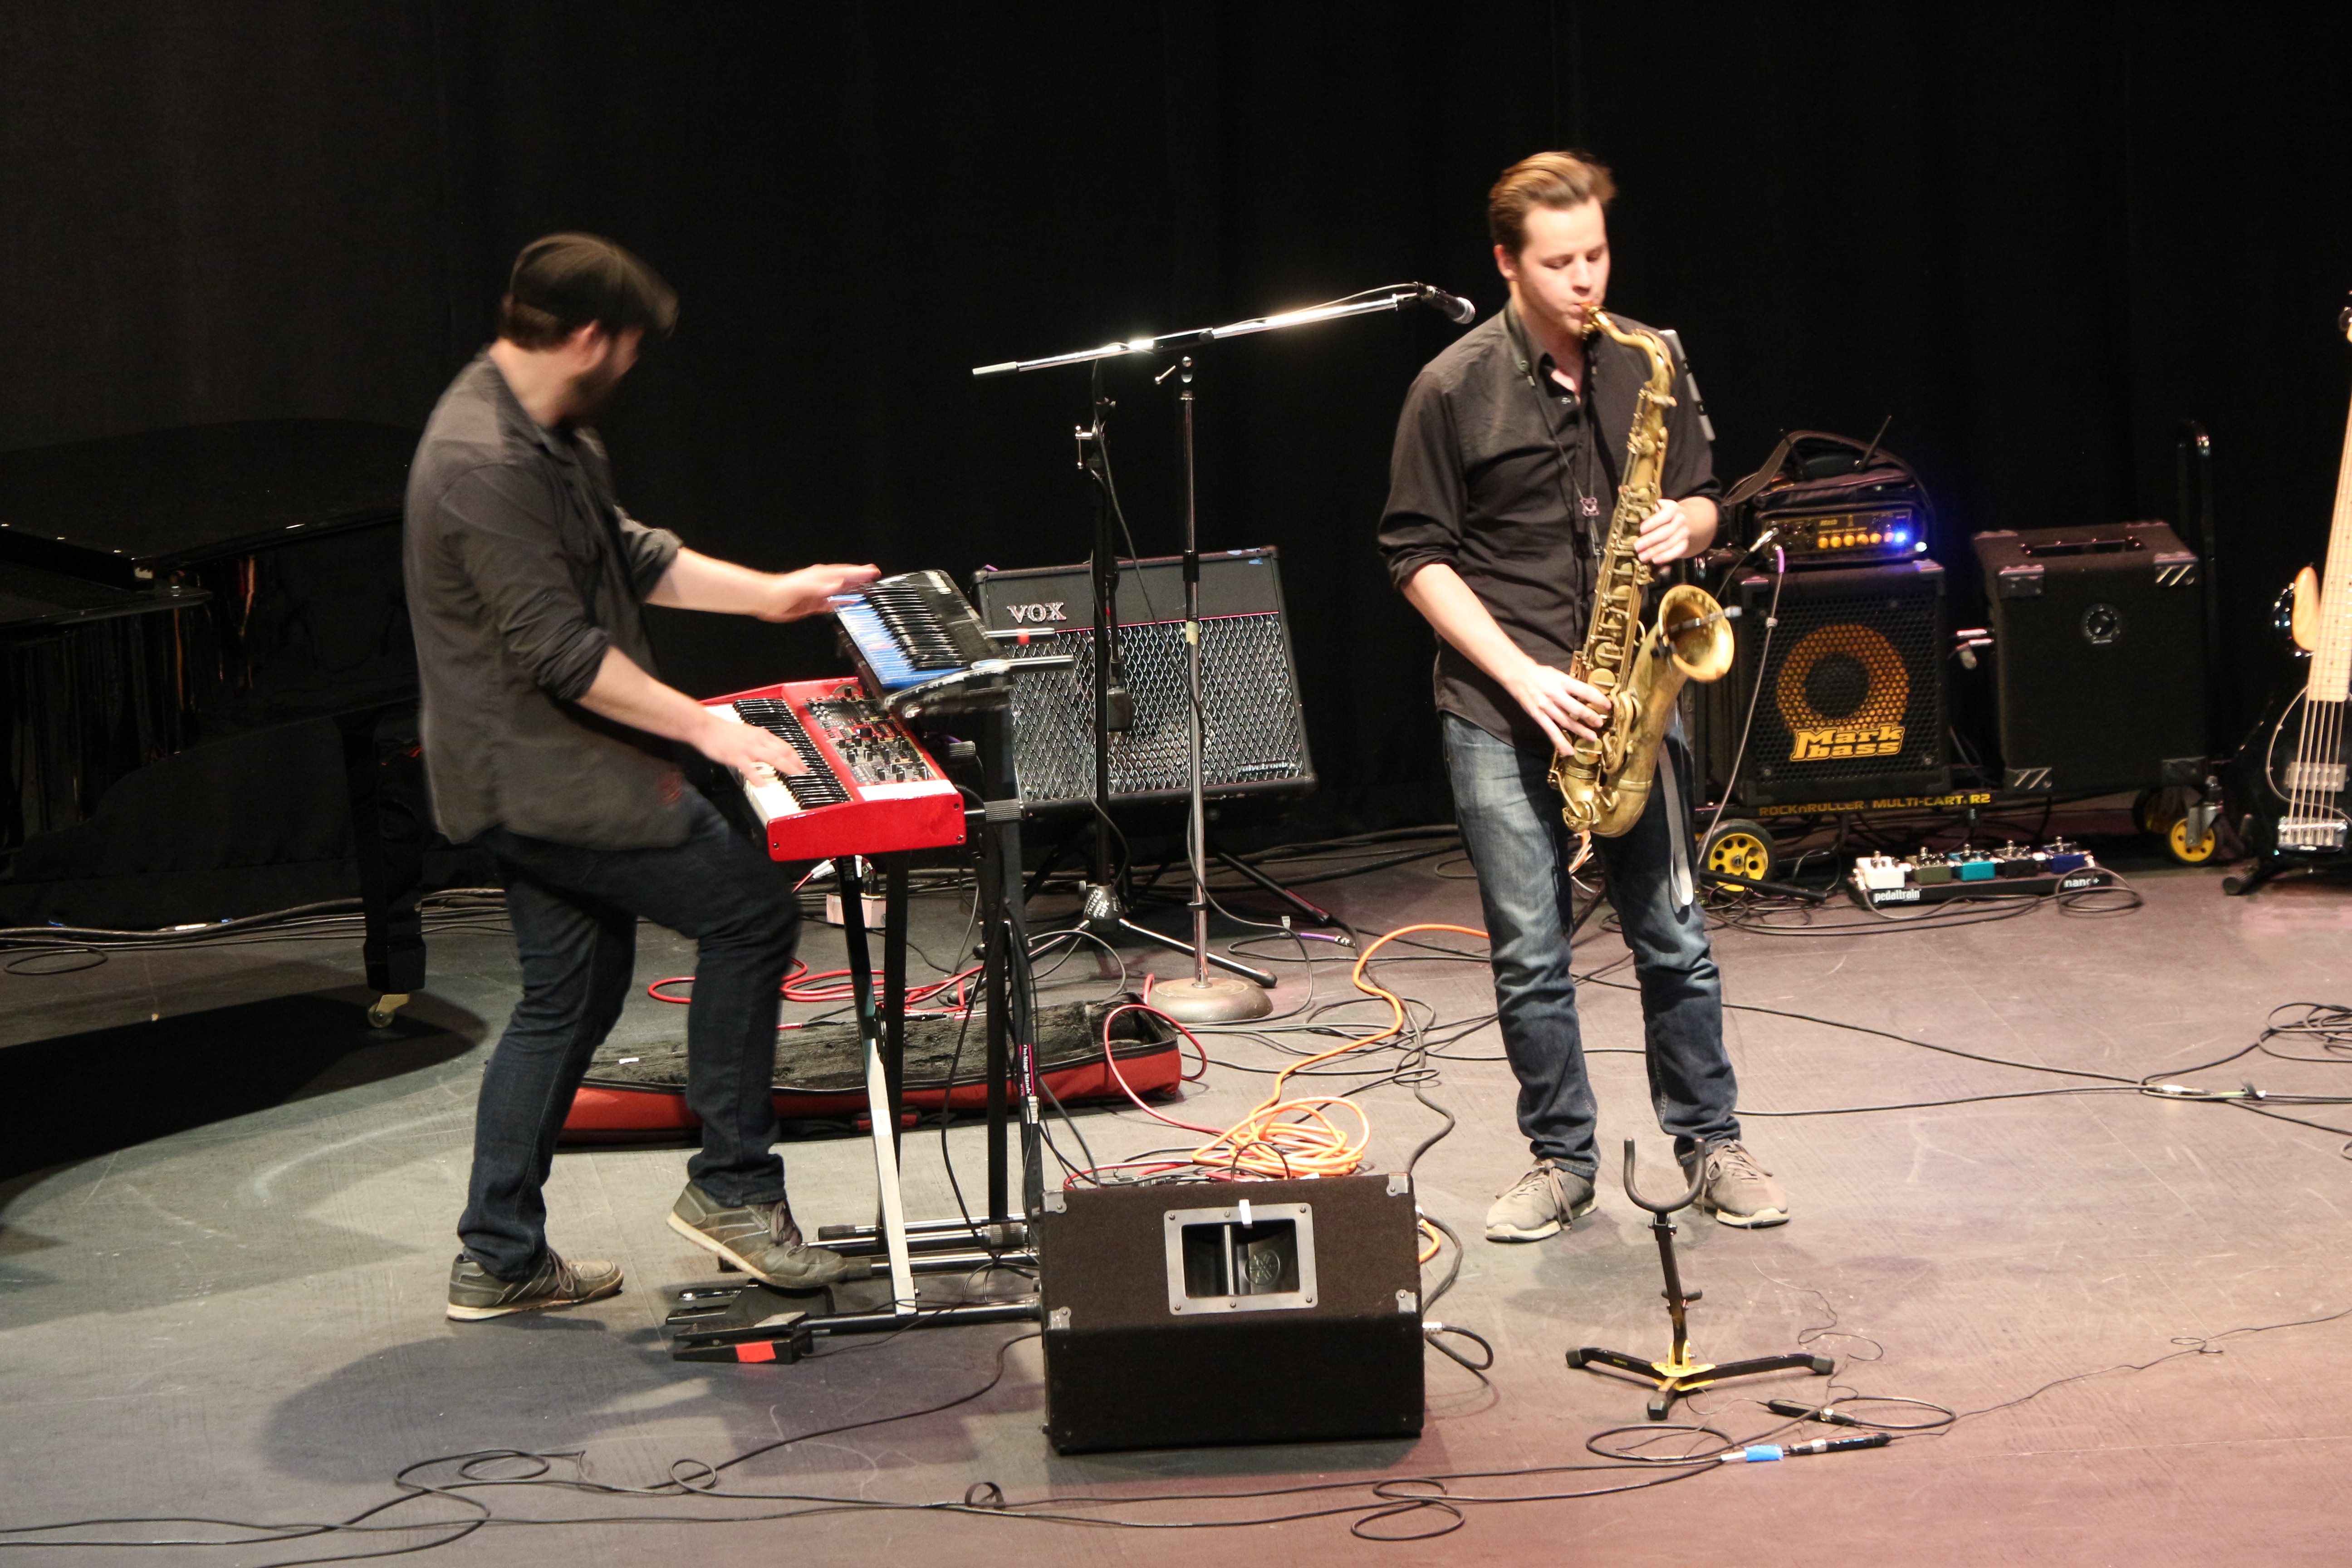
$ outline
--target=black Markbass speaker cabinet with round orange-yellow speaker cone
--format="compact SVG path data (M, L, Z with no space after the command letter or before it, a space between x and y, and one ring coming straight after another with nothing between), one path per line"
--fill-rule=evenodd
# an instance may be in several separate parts
M1879 802L1952 788L1945 719L1945 599L1936 562L1790 571L1729 585L1733 677L1715 682L1708 741L1715 780L1738 766L1743 806ZM1778 625L1766 621L1778 618Z

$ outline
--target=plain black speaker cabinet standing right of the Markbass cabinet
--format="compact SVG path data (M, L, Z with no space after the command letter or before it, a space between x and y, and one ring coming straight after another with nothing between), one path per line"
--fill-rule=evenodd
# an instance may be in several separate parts
M1976 536L2002 783L2143 790L2206 771L2197 552L2161 522Z

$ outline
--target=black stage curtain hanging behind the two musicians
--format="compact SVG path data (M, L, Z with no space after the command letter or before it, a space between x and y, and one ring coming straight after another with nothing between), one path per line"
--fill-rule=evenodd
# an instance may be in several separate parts
M2352 12L2314 5L581 5L0 12L0 447L419 423L513 252L621 237L684 296L609 421L623 494L762 567L1077 559L1084 374L969 367L1430 280L1503 289L1484 188L1578 143L1613 301L1679 327L1717 468L1870 435L1966 534L2173 515L2216 437L2239 712L2324 550L2352 284ZM1446 813L1430 639L1371 550L1437 315L1202 355L1202 538L1279 545L1327 790ZM1110 376L1136 545L1174 397ZM666 614L720 691L823 635Z

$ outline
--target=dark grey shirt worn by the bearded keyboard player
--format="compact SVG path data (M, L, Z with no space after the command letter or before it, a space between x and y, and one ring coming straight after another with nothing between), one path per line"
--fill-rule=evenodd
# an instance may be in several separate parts
M675 534L614 501L595 433L543 428L487 353L459 371L407 503L426 778L445 835L684 842L670 743L579 705L607 646L654 668L642 602L675 557Z

